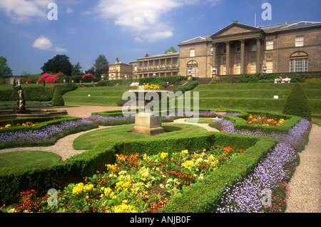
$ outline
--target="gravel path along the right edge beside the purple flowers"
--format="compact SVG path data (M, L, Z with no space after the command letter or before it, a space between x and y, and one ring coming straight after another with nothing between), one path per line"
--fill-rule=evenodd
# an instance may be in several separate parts
M313 124L309 143L300 153L300 165L290 181L287 213L320 213L321 127Z

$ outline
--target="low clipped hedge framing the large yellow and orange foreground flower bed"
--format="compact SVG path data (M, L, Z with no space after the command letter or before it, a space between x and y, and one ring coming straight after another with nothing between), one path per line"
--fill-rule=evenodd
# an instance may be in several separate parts
M225 182L233 183L244 177L258 164L277 140L258 136L240 136L229 133L198 133L193 136L158 138L153 136L134 142L98 143L91 150L71 156L66 161L44 166L0 171L0 204L13 203L19 199L19 192L36 189L37 196L50 188L61 189L68 183L77 183L85 176L92 176L95 171L103 171L106 164L114 163L115 153L159 153L190 151L209 148L216 144L235 146L245 149L240 158L229 161L225 167L210 173L204 181L195 183L182 196L174 198L165 208L165 212L203 212L209 205L217 203L221 197L221 188Z

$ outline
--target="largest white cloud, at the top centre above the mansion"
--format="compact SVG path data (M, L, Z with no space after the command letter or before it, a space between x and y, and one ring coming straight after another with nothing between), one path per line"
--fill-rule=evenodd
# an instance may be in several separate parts
M205 0L204 4L215 4L220 0ZM173 36L173 28L165 14L185 5L201 4L198 0L100 0L99 16L112 19L114 24L130 29L136 41L165 39Z

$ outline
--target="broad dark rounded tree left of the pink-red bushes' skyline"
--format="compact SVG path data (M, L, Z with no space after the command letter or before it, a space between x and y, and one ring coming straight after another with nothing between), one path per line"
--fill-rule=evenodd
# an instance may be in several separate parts
M43 74L58 74L63 73L67 76L71 76L73 65L69 61L69 57L66 54L54 56L53 59L49 59L44 66L41 67Z

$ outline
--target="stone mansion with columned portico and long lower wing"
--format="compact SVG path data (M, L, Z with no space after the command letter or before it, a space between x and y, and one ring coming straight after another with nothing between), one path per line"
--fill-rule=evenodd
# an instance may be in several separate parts
M117 59L110 65L109 79L320 72L321 22L286 22L261 28L233 21L210 36L183 41L178 47L178 53L146 54L123 67Z

